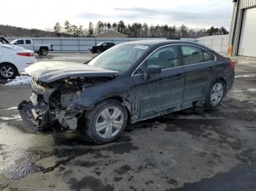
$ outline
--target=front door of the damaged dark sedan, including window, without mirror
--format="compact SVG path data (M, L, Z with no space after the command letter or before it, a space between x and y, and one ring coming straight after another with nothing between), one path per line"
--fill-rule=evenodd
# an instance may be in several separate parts
M159 48L140 65L133 75L135 116L146 119L167 109L181 106L184 69L180 64L178 46L168 45ZM159 74L151 74L146 79L146 68L150 65L161 66L162 71Z

